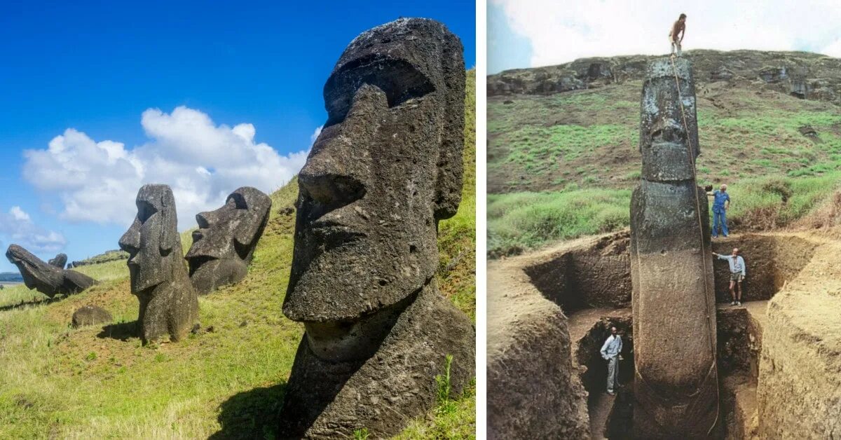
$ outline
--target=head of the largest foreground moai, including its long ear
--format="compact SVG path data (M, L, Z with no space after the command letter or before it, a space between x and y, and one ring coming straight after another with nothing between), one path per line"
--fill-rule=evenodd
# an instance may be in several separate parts
M399 19L360 34L327 80L283 304L310 342L316 323L397 305L435 273L437 222L461 199L462 51L442 24Z

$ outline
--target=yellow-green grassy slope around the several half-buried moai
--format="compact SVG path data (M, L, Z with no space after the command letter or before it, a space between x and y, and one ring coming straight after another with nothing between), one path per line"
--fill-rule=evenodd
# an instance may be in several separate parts
M442 290L475 315L475 78L468 72L468 179L458 215L442 222ZM273 209L248 276L199 300L206 331L177 344L141 347L130 334L137 300L124 262L85 266L102 280L65 300L42 300L23 286L0 293L0 438L271 437L303 327L280 310L288 283L293 180L272 193ZM189 235L182 235L184 247ZM101 305L106 327L71 329L73 310ZM454 362L458 362L456 359ZM430 378L432 379L432 378ZM454 411L433 411L404 437L472 437L470 392Z

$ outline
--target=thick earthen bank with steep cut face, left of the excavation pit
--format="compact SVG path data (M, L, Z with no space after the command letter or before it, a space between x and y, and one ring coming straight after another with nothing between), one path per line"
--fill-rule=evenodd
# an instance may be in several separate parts
M530 283L523 267L533 264L488 267L488 437L589 438L569 320Z

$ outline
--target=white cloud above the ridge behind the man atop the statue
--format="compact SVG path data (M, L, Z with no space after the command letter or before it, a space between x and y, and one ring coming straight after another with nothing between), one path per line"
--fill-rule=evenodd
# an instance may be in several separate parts
M665 0L558 2L491 0L505 10L510 28L532 44L532 66L587 56L653 55L669 52L668 34L686 13L684 50L841 51L841 3L710 0L677 4ZM807 19L807 17L817 19ZM804 24L804 20L808 24ZM822 50L823 49L823 50ZM833 55L833 54L827 54Z

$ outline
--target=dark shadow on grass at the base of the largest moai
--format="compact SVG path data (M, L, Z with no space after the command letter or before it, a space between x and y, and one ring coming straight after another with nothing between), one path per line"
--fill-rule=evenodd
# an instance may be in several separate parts
M222 429L209 438L277 438L278 415L286 394L286 382L255 388L230 396L220 405Z

